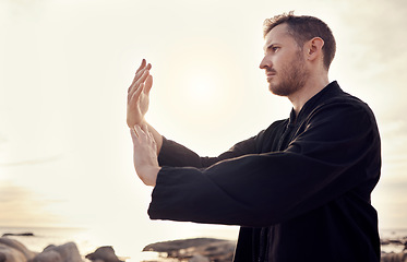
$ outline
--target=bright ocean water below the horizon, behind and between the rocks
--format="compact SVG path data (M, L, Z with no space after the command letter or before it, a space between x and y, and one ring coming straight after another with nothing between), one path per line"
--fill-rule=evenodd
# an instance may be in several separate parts
M189 228L191 229L191 228ZM160 239L157 241L176 240L188 237L215 237L223 239L236 239L238 228L237 227L194 227L193 230L189 230L190 235L180 235L173 238L168 237L167 239ZM70 241L76 243L80 253L85 257L87 253L94 252L98 247L112 246L116 250L116 254L119 258L124 259L128 262L141 262L141 261L159 261L157 253L155 252L142 252L143 247L152 243L148 239L145 241L136 241L137 236L133 236L134 241L129 238L122 238L122 241L117 239L112 242L101 241L94 230L88 228L55 228L55 227L0 227L0 236L7 233L22 234L33 233L33 237L24 236L12 236L11 238L19 240L29 250L40 252L47 246L63 245ZM125 233L124 233L125 234ZM405 239L407 238L407 229L382 229L380 231L382 239ZM140 240L139 236L139 240ZM143 238L142 238L143 239ZM404 246L402 245L386 245L382 246L382 251L385 252L400 252Z

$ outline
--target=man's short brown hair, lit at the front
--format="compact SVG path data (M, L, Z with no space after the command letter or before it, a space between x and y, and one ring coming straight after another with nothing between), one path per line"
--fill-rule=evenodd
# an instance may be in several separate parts
M331 28L323 21L308 15L298 16L294 14L294 11L290 11L289 13L266 19L264 21L263 36L265 37L268 32L279 24L288 25L289 34L301 48L306 41L311 40L313 37L321 37L324 40L324 46L322 47L324 67L326 70L330 69L331 62L335 57L336 41Z

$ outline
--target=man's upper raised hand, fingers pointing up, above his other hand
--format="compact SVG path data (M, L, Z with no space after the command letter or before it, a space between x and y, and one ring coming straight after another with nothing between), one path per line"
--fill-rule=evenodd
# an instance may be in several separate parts
M153 86L153 76L149 74L151 69L152 64L147 64L145 59L143 59L128 90L127 122L129 128L133 128L134 124L140 124L148 110L148 95Z

